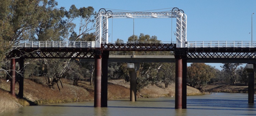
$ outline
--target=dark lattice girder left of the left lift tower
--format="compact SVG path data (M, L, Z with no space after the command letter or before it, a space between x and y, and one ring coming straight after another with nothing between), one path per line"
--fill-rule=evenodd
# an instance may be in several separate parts
M92 50L13 50L7 58L94 58Z

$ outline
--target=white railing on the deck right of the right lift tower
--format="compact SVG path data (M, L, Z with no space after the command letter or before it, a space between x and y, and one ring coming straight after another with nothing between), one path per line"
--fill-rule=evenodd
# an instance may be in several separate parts
M256 43L252 41L188 41L186 48L250 48L256 47Z

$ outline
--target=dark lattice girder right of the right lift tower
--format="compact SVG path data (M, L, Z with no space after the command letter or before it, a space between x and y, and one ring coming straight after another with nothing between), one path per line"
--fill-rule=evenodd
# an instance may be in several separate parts
M187 59L256 59L254 52L188 52Z

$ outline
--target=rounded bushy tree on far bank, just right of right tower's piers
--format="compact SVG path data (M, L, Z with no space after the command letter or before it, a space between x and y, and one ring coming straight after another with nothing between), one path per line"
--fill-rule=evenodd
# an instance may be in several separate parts
M191 63L187 68L187 84L197 89L202 89L211 78L216 75L216 70L204 63Z

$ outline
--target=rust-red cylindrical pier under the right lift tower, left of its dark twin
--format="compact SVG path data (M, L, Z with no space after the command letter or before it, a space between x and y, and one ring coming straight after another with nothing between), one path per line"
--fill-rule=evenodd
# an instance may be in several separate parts
M182 59L175 57L175 109L182 108Z

